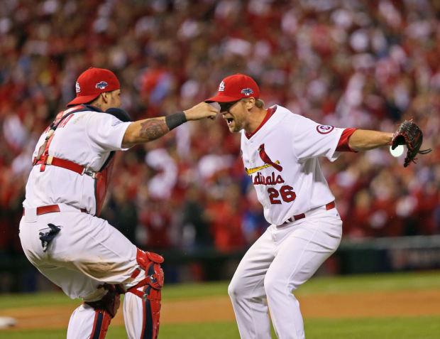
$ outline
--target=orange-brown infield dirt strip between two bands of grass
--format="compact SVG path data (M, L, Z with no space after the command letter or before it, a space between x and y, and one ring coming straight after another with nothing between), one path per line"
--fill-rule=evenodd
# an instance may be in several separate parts
M298 296L305 318L431 316L440 314L440 289ZM0 316L16 318L9 330L67 328L72 306L2 309ZM227 296L163 301L161 323L234 320ZM122 310L112 321L122 324Z

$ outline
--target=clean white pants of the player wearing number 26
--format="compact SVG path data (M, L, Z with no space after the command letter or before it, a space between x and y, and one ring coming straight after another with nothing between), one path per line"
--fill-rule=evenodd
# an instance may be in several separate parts
M342 235L336 208L323 206L305 215L270 225L238 265L228 292L241 338L271 338L268 308L277 338L304 338L299 302L292 291L336 251Z

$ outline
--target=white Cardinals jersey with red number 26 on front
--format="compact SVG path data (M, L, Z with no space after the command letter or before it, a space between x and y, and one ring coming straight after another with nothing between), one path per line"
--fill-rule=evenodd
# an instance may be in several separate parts
M336 146L344 129L317 124L277 105L268 112L272 115L253 134L241 131L241 153L265 219L281 225L334 200L317 157L339 157Z

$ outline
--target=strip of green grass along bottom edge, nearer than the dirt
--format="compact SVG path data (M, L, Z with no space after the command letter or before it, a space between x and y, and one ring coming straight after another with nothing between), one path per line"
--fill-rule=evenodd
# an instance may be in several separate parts
M437 339L440 316L418 318L311 319L304 321L307 339ZM8 339L59 339L66 330L7 332ZM1 334L1 332L0 332ZM2 337L3 338L3 337ZM126 338L121 325L110 326L106 339ZM235 322L160 325L160 339L235 339ZM275 333L273 333L275 338Z

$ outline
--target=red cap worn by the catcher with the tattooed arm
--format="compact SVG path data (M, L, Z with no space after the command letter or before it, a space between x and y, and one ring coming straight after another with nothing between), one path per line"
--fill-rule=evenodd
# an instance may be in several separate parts
M119 90L119 80L111 70L91 67L79 75L75 89L77 97L66 106L85 104L96 99L103 92Z

